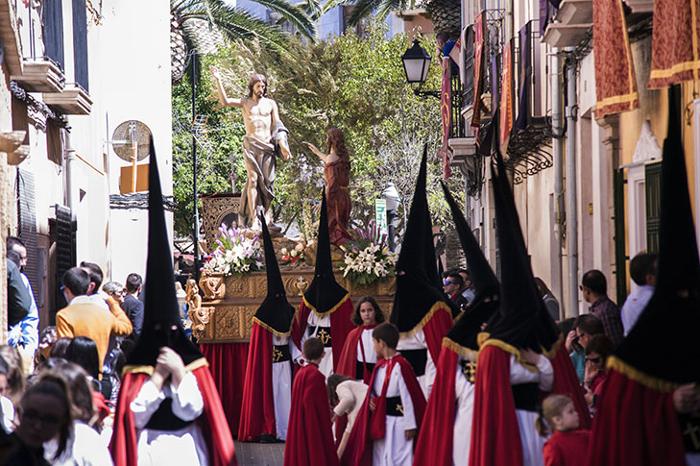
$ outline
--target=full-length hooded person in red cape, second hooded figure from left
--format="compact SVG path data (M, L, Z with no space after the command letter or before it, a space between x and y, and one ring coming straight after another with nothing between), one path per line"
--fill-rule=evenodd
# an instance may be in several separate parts
M253 316L238 440L287 438L292 397L289 329L294 308L287 301L272 238L260 216L265 248L267 296Z

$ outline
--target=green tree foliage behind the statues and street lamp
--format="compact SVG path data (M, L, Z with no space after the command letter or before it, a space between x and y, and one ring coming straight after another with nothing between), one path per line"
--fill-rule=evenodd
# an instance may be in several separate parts
M283 222L294 219L306 235L315 232L313 206L320 198L323 166L303 142L312 142L325 151L325 132L332 126L343 130L350 152L353 221L367 224L373 217L374 199L390 181L402 197L400 214L408 212L424 143L428 144L430 157L430 191L436 193L430 195L436 219L447 211L442 195L437 195L441 175L436 155L439 102L416 97L406 84L401 55L409 47L409 39L405 35L386 39L385 35L385 29L375 25L366 38L349 34L315 44L292 38L284 54L256 43L237 43L207 58L207 65L221 70L230 97L247 94L251 73L267 76L268 95L279 105L293 155L291 160L279 160L277 164L276 218ZM423 44L434 50L434 42L423 39ZM439 72L433 64L425 88L438 88ZM203 73L203 84L197 105L199 113L208 115L206 139L211 142L211 150L201 160L199 190L230 190L229 156L240 190L246 180L241 160L244 128L240 110L218 108L208 73ZM178 122L191 119L189 93L189 84L184 83L175 87L173 96L176 228L180 234L188 234L191 228L191 138L183 131L187 125L178 126Z

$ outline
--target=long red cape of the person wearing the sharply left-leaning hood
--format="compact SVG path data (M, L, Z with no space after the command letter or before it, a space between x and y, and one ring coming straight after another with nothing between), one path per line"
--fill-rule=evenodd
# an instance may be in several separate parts
M455 377L459 355L443 344L437 374L416 441L414 466L452 466Z

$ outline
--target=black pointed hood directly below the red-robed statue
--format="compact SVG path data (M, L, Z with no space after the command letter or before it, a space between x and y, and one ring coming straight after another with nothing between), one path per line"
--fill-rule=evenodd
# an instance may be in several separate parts
M324 190L316 240L316 269L314 279L304 293L306 305L318 314L333 310L348 295L348 291L335 280L335 275L333 275L331 241L328 235L328 211L326 209L326 192Z

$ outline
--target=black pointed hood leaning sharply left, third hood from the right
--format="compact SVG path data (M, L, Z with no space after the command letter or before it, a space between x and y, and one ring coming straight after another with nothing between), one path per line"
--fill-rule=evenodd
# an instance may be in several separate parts
M462 243L462 250L467 259L469 274L475 289L474 300L455 321L447 338L460 346L478 351L477 336L481 332L482 324L488 322L498 312L498 279L488 260L484 257L479 243L474 238L464 214L444 182L442 182L442 190L452 211L452 219L459 235L459 241Z

